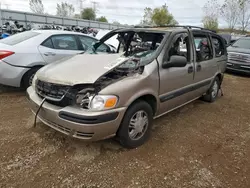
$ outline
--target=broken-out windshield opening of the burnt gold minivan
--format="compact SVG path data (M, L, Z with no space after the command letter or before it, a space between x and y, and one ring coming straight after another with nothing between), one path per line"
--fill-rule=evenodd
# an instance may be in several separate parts
M107 34L109 35L109 34ZM104 36L100 41L116 41L116 53L125 57L135 57L141 61L152 57L162 45L166 33L154 31L134 31L126 30L113 32L111 35ZM98 49L97 47L96 49Z

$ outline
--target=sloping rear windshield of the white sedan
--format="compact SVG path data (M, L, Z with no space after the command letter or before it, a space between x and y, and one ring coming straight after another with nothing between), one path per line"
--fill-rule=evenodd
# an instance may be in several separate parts
M12 36L9 36L5 39L0 40L0 43L7 44L7 45L16 45L18 43L21 43L25 40L28 40L32 37L35 37L39 35L40 33L33 32L33 31L26 31L23 33L18 33Z

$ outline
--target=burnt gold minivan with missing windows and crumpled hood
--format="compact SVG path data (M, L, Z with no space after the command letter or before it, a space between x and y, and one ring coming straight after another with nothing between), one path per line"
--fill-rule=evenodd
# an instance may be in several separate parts
M114 38L114 54L97 53ZM40 69L27 89L36 117L83 140L116 136L135 148L150 135L154 118L202 97L217 98L226 46L203 28L117 29L91 51Z

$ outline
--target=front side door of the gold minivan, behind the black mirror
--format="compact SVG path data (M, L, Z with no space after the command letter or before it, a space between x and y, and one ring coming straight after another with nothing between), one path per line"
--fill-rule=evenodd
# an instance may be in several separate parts
M187 32L175 34L166 48L159 67L160 76L160 114L179 107L194 98L192 84L194 83L194 61L192 45ZM171 56L178 55L187 58L185 67L162 68Z

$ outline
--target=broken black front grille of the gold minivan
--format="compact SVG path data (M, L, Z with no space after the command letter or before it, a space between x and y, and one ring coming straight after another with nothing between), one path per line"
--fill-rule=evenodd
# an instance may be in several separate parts
M60 107L69 106L75 101L75 92L71 86L38 80L36 93L41 98L47 98L47 102Z

